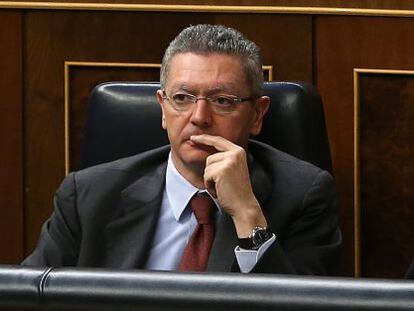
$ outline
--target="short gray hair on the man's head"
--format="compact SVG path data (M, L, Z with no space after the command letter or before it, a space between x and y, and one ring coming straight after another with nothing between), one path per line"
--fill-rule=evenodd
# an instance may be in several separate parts
M165 88L171 59L180 53L228 54L241 57L252 96L263 94L263 71L259 47L241 32L222 25L200 24L182 30L164 53L161 65L161 88Z

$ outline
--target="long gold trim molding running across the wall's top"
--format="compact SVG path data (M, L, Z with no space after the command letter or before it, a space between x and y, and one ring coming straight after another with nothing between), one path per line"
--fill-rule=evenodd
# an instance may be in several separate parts
M0 9L43 10L95 10L95 11L144 11L144 12L201 12L201 13L263 13L263 14L320 14L355 16L414 17L414 10L359 9L340 7L286 7L242 5L173 5L79 2L20 2L1 1Z

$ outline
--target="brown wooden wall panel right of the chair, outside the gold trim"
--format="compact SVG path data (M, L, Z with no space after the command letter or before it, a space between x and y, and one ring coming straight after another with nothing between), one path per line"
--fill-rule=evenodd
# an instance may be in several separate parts
M413 19L318 16L315 20L315 82L325 104L341 224L346 232L343 267L347 275L353 275L350 263L354 261L353 69L414 69L413 33ZM390 266L395 264L396 258L387 258Z

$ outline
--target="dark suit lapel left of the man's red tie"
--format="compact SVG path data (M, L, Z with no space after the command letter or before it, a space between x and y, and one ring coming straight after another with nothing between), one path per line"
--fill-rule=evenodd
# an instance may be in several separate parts
M121 193L121 217L106 227L107 267L143 268L154 236L165 185L166 163Z

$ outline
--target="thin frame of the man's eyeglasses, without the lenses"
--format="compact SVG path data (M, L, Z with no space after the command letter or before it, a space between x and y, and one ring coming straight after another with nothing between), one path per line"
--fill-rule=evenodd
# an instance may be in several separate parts
M197 104L197 101L199 101L201 99L204 99L205 101L207 101L208 104L210 104L213 107L214 112L219 113L219 114L231 113L231 112L235 111L236 108L239 107L240 104L242 104L244 102L247 102L247 101L256 100L256 99L261 97L261 96L239 97L237 95L232 95L232 94L218 94L218 95L214 95L214 96L196 96L196 95L191 94L191 93L180 93L180 92L177 92L177 93L173 94L172 96L168 96L164 89L162 89L161 91L162 91L162 94L163 94L162 99L167 100L170 103L170 105L176 111L188 111L190 109L190 107L192 106L192 104ZM174 100L173 97L175 95L178 95L178 94L187 96L188 98L192 99L192 103L189 104L188 106L186 106L188 108L179 109L179 108L177 108L177 106L174 105L175 100ZM217 106L217 104L215 104L215 102L214 102L214 99L218 99L219 97L225 97L226 99L229 99L229 100L231 99L233 101L233 105L234 105L234 106L232 106L232 108L233 107L234 108L230 111L219 111L219 110L214 109L214 107L219 108L219 106Z

